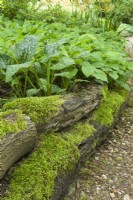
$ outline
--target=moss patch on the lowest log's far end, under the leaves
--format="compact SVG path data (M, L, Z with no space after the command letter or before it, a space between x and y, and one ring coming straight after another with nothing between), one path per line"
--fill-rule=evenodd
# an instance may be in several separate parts
M103 100L97 110L93 113L91 120L99 122L101 125L111 125L115 116L117 116L120 106L127 99L125 90L108 91L105 87L103 91Z

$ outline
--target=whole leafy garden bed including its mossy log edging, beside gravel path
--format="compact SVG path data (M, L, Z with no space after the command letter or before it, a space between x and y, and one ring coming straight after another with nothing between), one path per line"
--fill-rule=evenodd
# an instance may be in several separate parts
M120 24L132 2L100 5L82 14L0 1L2 200L61 199L121 116L133 65Z

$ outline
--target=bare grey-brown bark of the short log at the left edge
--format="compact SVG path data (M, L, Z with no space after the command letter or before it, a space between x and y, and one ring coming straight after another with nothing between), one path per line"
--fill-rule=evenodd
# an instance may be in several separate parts
M12 119L12 115L8 118ZM19 133L7 133L0 140L0 179L6 174L7 170L20 158L29 153L37 142L37 132L35 125L28 116L24 116L27 128Z

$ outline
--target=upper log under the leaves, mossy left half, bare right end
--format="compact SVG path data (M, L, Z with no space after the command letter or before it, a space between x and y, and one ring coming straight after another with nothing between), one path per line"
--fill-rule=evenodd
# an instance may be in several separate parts
M94 110L102 97L102 87L89 85L78 93L64 96L29 97L5 104L3 110L20 109L30 116L37 132L60 130Z

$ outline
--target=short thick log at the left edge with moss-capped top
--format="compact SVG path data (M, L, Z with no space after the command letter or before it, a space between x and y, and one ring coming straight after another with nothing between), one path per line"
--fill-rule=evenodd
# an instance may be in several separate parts
M2 113L0 119L1 179L18 159L35 147L37 132L30 118L16 111Z

